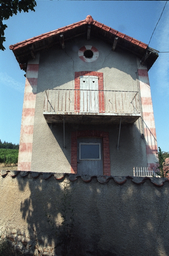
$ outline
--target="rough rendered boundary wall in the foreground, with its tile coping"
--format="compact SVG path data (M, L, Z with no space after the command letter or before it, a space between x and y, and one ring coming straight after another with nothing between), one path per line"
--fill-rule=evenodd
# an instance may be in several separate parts
M64 255L64 216L82 255L169 255L168 179L0 173L1 233L23 252Z

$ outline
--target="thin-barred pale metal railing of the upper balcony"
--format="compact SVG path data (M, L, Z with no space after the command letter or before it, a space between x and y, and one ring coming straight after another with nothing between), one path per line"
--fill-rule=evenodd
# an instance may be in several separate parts
M45 89L44 112L140 113L135 91Z

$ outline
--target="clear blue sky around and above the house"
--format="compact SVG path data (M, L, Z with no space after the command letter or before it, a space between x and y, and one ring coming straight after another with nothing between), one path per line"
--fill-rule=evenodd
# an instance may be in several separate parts
M37 0L35 12L18 13L5 21L6 50L0 51L0 139L19 143L25 72L10 44L78 22L91 15L126 35L148 44L166 1L49 1ZM169 51L169 2L153 34L150 47ZM149 79L157 143L169 151L169 53L159 53Z

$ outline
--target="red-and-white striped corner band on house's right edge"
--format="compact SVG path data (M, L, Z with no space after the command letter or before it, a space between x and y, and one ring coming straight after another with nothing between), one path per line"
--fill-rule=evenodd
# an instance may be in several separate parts
M140 65L137 58L138 79L140 84L141 103L143 111L144 136L146 140L146 153L148 167L156 167L157 140L154 122L153 105L151 100L150 83L146 65Z

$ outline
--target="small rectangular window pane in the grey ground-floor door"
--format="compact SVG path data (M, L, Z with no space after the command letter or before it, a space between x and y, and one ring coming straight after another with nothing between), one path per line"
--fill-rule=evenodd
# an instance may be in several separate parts
M101 160L100 143L80 143L80 160Z

